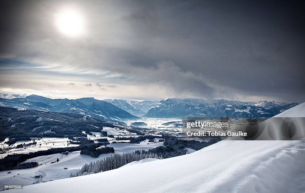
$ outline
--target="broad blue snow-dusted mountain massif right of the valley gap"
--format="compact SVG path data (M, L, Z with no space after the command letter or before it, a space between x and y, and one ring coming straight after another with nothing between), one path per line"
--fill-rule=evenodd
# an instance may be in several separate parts
M158 106L150 109L143 117L272 117L296 105L297 103L276 103L274 107L269 105L267 108L260 107L259 104L256 106L224 99L212 101L203 99L167 99L161 100Z

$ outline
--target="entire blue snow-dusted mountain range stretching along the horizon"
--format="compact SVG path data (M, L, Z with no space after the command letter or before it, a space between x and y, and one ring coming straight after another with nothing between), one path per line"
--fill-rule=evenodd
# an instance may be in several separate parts
M276 101L241 102L233 100L203 100L196 98L157 101L134 101L121 99L96 100L91 98L50 99L38 95L25 98L2 99L0 106L36 109L90 115L106 121L124 121L145 118L183 117L272 117L297 103Z

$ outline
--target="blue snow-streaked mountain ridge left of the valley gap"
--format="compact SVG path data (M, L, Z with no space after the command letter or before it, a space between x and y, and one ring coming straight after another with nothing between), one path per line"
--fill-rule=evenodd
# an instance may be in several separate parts
M30 95L25 98L0 99L0 106L36 109L42 111L55 111L65 113L78 113L90 115L96 118L110 121L124 119L138 119L138 117L120 109L103 100L91 98L50 99L38 95Z

